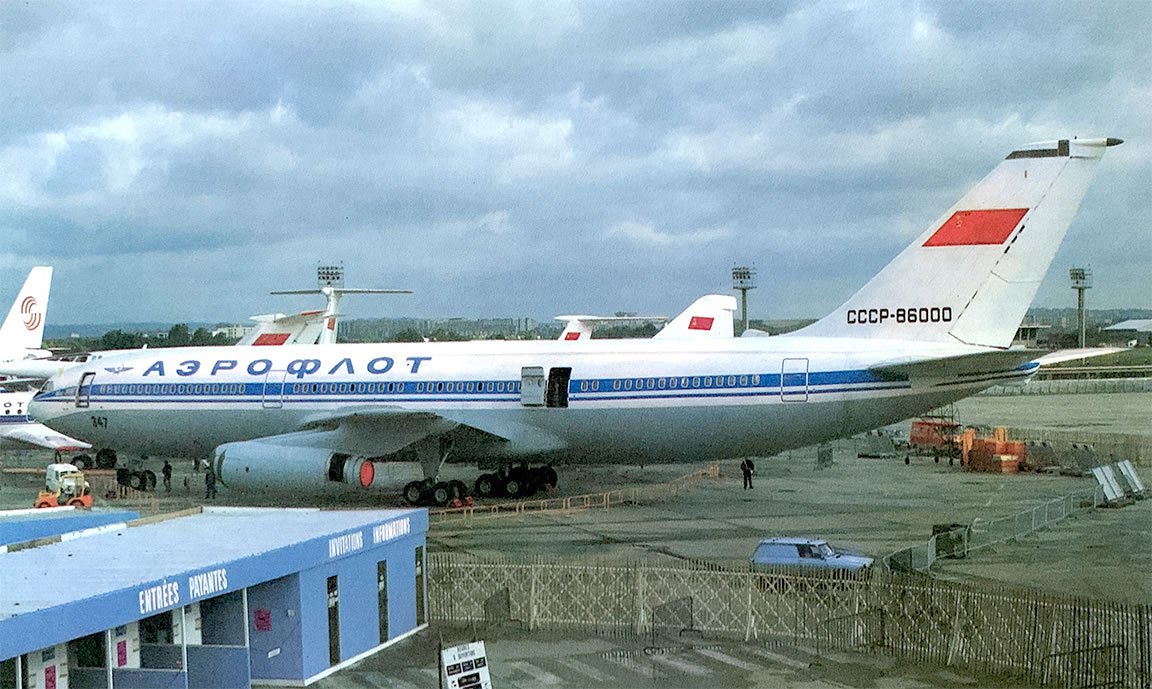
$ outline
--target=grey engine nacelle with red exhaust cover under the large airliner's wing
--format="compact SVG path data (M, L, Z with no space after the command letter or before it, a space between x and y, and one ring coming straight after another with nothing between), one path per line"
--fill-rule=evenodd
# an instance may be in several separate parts
M259 441L221 445L212 461L228 489L260 492L367 489L378 478L376 467L357 455Z

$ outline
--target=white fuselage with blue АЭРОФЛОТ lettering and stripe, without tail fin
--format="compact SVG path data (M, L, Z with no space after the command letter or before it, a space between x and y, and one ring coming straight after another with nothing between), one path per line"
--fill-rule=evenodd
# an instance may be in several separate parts
M98 447L176 456L361 414L380 418L380 432L361 418L339 449L396 452L408 441L393 441L395 419L424 418L485 432L492 442L473 452L490 456L698 461L843 437L1026 376L901 380L869 371L975 351L986 350L798 336L157 349L61 373L32 411ZM550 373L551 393L531 389L548 388Z

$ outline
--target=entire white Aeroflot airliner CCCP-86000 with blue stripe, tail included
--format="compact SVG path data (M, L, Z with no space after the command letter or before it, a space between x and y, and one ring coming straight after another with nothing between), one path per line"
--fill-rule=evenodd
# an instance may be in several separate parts
M446 462L487 470L480 495L521 495L554 484L555 462L773 455L1031 376L1038 353L1013 336L1120 143L1011 151L843 305L785 335L157 349L65 371L31 410L98 447L211 457L238 489L367 486L407 462L424 478L404 495L423 504L463 489Z

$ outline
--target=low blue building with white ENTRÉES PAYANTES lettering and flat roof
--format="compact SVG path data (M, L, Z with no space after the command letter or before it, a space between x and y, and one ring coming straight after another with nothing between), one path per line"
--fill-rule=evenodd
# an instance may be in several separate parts
M423 509L0 514L0 689L304 686L427 623Z

